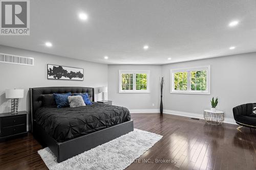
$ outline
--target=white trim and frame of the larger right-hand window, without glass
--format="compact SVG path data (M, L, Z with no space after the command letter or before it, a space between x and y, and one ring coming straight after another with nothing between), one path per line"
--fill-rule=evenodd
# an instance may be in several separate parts
M176 72L184 72L184 71L194 71L194 70L207 70L207 89L205 91L199 91L199 90L190 90L190 74L188 76L188 82L189 86L187 88L189 90L175 90L174 87L174 74ZM180 68L180 69L171 69L170 70L170 93L180 93L180 94L210 94L210 65L207 66L197 66L197 67L189 67L189 68Z

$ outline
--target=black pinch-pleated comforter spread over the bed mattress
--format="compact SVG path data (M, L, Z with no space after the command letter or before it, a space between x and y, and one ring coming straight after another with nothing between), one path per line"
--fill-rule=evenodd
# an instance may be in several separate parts
M129 120L131 114L127 108L96 102L76 108L41 107L35 113L36 123L58 142Z

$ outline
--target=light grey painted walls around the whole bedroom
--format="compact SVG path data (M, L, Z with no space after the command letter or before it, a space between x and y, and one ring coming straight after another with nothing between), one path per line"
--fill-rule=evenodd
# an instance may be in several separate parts
M10 111L10 101L5 99L5 89L25 89L25 98L19 110L28 110L28 89L46 86L99 87L108 85L108 99L114 105L129 109L159 109L159 78L165 77L163 105L166 110L203 114L210 108L210 98L219 97L218 109L232 118L234 106L256 102L256 53L247 53L212 59L203 59L166 65L105 65L72 58L37 53L0 45L0 53L35 58L34 66L0 63L0 113ZM47 80L47 64L84 68L84 81ZM170 69L211 65L210 95L174 94L170 91ZM118 93L119 69L151 71L150 93ZM96 90L97 91L97 90ZM100 96L100 94L99 94ZM97 98L97 95L96 95ZM152 104L155 104L153 107Z

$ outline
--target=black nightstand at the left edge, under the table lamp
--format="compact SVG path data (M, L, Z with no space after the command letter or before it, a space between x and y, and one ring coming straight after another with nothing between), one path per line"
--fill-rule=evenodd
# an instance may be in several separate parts
M19 111L17 114L0 114L0 142L6 139L27 136L27 115L26 111Z

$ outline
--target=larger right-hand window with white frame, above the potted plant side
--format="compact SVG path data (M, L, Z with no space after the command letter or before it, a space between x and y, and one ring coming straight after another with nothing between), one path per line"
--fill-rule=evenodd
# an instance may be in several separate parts
M170 70L171 93L210 94L210 66Z

